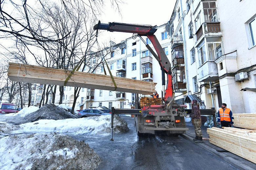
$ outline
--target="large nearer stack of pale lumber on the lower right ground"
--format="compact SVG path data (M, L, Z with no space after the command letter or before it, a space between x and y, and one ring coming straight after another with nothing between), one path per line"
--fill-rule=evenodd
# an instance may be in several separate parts
M256 163L256 130L212 127L207 133L211 144Z

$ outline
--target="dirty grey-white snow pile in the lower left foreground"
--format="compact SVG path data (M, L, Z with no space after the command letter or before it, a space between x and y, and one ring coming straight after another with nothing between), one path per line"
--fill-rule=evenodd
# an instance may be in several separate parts
M0 169L96 169L101 162L84 141L43 133L0 137Z

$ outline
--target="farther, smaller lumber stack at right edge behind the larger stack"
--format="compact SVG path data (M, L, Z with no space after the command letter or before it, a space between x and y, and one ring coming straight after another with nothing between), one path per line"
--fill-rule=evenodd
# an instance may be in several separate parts
M233 113L235 127L256 130L256 113Z

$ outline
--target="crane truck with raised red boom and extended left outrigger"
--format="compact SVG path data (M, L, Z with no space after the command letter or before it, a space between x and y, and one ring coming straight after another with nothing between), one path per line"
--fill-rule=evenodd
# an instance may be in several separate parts
M145 133L155 134L155 131L165 131L167 135L178 136L179 134L186 133L188 128L185 124L186 105L178 105L174 102L174 93L172 86L172 70L171 63L165 52L163 51L160 42L157 40L154 33L157 31L151 25L137 25L137 24L124 24L124 23L108 23L102 24L100 21L94 26L94 30L107 30L117 32L134 33L135 36L146 36L153 44L157 54L153 49L145 43L148 50L159 62L162 69L162 79L167 74L167 85L163 97L163 105L150 105L143 106L141 109L115 109L112 107L112 140L113 140L113 116L114 114L135 114L135 125L137 134L140 136ZM165 80L162 81L165 85ZM138 95L137 95L138 98Z

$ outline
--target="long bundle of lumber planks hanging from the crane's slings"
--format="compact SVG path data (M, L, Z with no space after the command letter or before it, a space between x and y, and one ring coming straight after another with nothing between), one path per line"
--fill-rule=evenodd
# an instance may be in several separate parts
M18 63L9 63L8 69L8 76L11 81L61 86L64 86L64 82L70 73L71 71L64 69ZM156 91L155 86L157 83L154 82L116 76L114 76L114 80L117 85L116 90L112 78L109 75L75 71L74 74L70 76L66 86L139 94L152 94Z

